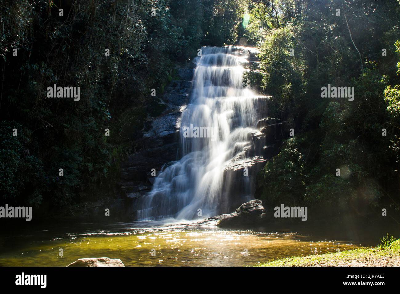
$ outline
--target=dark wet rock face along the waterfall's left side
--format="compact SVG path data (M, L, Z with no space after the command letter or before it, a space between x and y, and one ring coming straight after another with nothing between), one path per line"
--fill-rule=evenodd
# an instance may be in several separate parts
M150 191L157 172L168 162L177 159L180 116L189 103L195 64L183 62L176 65L176 79L164 89L162 96L156 97L162 106L158 116L148 116L140 144L146 146L128 157L122 163L121 181L118 183L127 198L136 200ZM136 218L134 210L131 219Z

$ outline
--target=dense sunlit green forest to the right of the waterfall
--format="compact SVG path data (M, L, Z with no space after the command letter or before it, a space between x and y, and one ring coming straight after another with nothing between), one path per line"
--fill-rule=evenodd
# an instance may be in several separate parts
M286 134L294 129L258 175L257 196L324 215L387 208L398 216L399 1L250 6L249 40L262 51L258 80ZM354 87L354 100L322 98L328 84Z

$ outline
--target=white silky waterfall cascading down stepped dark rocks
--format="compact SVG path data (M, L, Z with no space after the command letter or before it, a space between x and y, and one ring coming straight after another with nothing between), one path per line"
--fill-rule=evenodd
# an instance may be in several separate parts
M182 158L162 168L151 192L140 200L138 219L191 220L227 212L229 196L223 188L232 179L224 172L232 162L246 162L259 119L260 96L243 87L248 55L246 48L234 46L202 48L195 60L191 103L180 120ZM246 186L245 164L242 169L239 180ZM241 203L252 198L249 190L239 197Z

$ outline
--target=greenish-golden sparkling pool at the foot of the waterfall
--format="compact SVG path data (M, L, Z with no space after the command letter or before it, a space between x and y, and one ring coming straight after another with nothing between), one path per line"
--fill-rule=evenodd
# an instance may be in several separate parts
M119 258L125 266L252 266L276 258L374 245L376 242L353 244L352 240L320 234L195 228L162 222L81 224L1 236L0 266L66 266L84 257ZM64 256L59 256L60 248Z

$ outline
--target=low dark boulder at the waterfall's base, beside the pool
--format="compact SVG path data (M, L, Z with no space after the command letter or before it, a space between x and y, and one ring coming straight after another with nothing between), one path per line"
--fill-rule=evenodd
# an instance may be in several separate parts
M197 223L198 226L215 224L220 228L246 228L254 227L264 222L267 218L266 208L262 200L254 199L243 203L230 214L221 214L207 218Z

